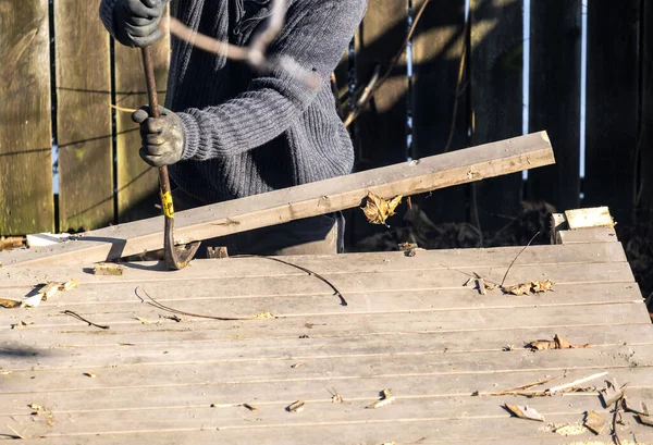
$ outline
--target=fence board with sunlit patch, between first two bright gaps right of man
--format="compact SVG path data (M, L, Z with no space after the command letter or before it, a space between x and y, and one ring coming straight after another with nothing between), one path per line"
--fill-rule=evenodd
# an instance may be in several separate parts
M424 1L414 1L414 11L419 11ZM412 38L410 97L415 158L459 149L468 144L467 94L461 91L456 103L460 54L466 40L465 0L442 4L431 1ZM448 143L452 120L455 121L455 127ZM417 198L414 201L419 202L434 222L467 221L468 188L459 186L435 190L428 195L429 199Z

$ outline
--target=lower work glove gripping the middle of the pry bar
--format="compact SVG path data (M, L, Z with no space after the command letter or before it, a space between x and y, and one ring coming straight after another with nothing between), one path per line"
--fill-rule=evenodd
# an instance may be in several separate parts
M132 114L132 121L140 125L140 158L152 166L173 164L182 159L184 152L182 120L161 106L159 113L159 118L150 118L146 106Z

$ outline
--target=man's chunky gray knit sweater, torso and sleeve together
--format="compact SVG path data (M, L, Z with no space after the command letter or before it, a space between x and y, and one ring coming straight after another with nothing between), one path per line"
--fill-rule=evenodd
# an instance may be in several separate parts
M116 0L101 0L113 33ZM167 108L183 122L174 182L205 203L348 174L354 150L337 116L330 73L367 0L291 0L284 28L268 49L319 74L310 88L281 70L255 73L172 38ZM220 40L247 45L270 15L270 0L172 0L171 14ZM260 26L259 26L260 25Z

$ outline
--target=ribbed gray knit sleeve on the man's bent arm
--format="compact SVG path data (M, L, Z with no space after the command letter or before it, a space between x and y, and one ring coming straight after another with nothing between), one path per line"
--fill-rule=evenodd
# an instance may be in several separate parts
M292 58L326 87L331 72L358 27L367 0L297 0L286 14L280 38L268 50ZM318 90L274 67L221 104L178 112L184 133L183 160L238 154L285 132L310 106Z

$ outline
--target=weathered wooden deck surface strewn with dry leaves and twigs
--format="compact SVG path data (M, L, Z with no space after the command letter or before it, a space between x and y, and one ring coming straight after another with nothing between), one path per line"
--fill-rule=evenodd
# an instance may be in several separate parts
M629 383L629 398L653 406L653 325L621 245L568 238L518 258L506 284L555 282L554 292L521 297L464 286L475 272L501 283L520 248L286 259L321 274L348 306L318 277L263 258L196 260L172 273L131 263L122 276L93 275L89 264L0 269L5 298L24 298L38 283L81 283L38 308L0 308L0 442L613 443L609 425L601 436L552 431L582 423L589 410L612 424L594 392L472 396L607 371ZM276 318L175 321L147 295L187 312ZM11 329L21 321L28 325ZM591 346L523 348L555 334ZM384 388L395 401L367 409ZM305 409L288 412L296 400ZM505 403L528 405L546 422L512 417ZM653 428L629 412L623 420L623 444L653 443Z

